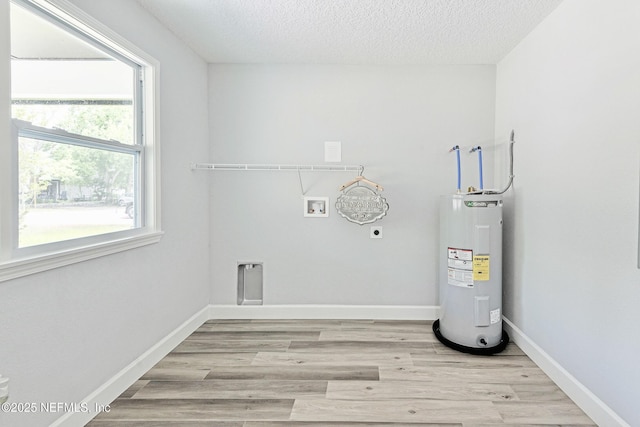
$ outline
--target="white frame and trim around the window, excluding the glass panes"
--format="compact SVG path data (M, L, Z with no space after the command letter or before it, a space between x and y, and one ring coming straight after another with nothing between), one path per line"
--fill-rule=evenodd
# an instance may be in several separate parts
M0 282L157 243L163 234L160 222L160 145L157 120L160 81L158 61L67 0L10 1L27 5L30 10L37 11L50 22L71 28L74 34L81 34L79 37L84 41L106 47L107 52L117 59L140 67L140 84L135 85L139 92L134 96L134 102L141 102L141 108L136 109L141 114L137 121L140 126L136 132L142 141L137 146L140 150L139 227L18 249L15 231L18 165L17 137L14 134L17 130L13 124L0 123ZM0 9L0 18L7 25L2 26L5 33L0 38L8 40L9 1L2 3L4 5L0 6L3 8ZM10 47L7 45L6 42L0 42L0 55L6 58L3 69L0 69L0 100L4 103L0 107L0 114L7 112L11 116ZM105 50L103 47L101 49Z

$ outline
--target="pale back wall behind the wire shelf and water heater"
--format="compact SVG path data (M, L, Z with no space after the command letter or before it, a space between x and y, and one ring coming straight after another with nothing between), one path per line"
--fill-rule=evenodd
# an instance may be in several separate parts
M356 173L302 174L307 195L330 197L321 219L303 217L295 172L203 172L214 304L236 304L238 261L261 261L265 305L438 305L438 196L456 188L448 149L491 153L494 66L210 65L209 97L212 162L323 164L324 141L341 141L342 164L363 164L390 205L372 240L334 208ZM464 185L477 185L477 158L462 157Z

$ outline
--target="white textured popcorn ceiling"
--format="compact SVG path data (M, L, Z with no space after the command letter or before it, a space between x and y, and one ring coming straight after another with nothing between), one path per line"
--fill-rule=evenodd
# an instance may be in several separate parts
M138 0L210 63L495 64L562 0Z

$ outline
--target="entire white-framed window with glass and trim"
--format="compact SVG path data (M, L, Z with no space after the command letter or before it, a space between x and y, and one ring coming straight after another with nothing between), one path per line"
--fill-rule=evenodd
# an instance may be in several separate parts
M157 241L155 61L64 0L9 19L0 280Z

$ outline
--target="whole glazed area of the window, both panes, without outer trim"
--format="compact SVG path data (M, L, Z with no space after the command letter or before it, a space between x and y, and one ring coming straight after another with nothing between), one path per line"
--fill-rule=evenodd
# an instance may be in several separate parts
M140 66L26 2L10 5L14 247L142 226Z

